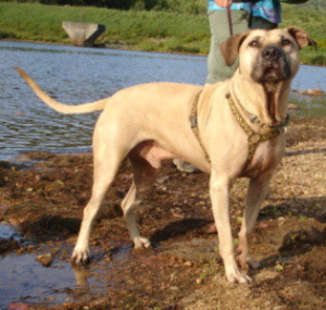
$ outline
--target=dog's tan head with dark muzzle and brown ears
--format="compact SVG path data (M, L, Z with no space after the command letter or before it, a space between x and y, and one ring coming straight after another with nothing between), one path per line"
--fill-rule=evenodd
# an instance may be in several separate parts
M273 30L255 29L239 34L221 45L227 65L239 55L241 74L256 83L278 83L294 77L299 67L299 50L314 46L301 28L288 27Z

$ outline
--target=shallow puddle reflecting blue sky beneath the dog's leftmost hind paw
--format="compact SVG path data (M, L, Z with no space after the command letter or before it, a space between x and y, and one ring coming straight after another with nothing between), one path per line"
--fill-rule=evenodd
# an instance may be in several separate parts
M1 224L0 224L1 228ZM1 231L0 231L1 232ZM115 244L112 243L112 247ZM114 278L114 270L123 269L124 264L133 261L130 246L122 245L112 252L112 261L103 259L103 252L95 257L89 266L72 268L71 262L63 258L72 249L58 246L50 266L45 268L36 260L39 251L29 253L9 253L0 256L0 309L7 309L12 302L41 303L54 306L62 302L74 301L80 296L104 296L118 283ZM42 252L53 251L53 247L42 247ZM62 256L63 257L59 257ZM110 253L108 253L111 257Z

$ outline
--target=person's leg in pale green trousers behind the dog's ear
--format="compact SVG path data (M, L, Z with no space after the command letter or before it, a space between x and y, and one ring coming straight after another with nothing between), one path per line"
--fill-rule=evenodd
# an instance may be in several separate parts
M247 32L249 29L247 12L233 10L231 18L233 32L235 35ZM236 62L233 66L227 66L220 50L221 42L223 42L230 36L226 11L209 11L209 22L212 38L210 53L208 57L209 73L206 84L213 84L231 77L238 66L238 62Z

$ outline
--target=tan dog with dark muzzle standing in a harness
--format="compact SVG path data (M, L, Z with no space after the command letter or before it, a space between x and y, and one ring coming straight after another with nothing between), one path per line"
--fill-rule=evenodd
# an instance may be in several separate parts
M125 157L130 159L134 182L122 202L124 216L135 247L149 247L149 239L139 235L135 211L153 185L161 161L179 158L211 174L210 195L227 280L250 282L235 258L229 188L237 177L250 177L238 259L244 269L248 264L258 266L248 255L249 237L284 153L290 83L299 67L299 50L305 45L314 42L297 27L248 32L222 45L228 64L238 55L240 60L229 80L208 87L139 85L76 107L50 98L18 69L39 98L59 112L103 110L93 133L92 194L84 210L73 262L89 261L93 219ZM191 129L190 114L197 116L199 137Z

